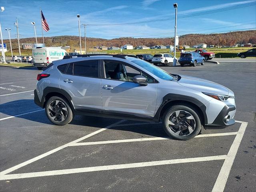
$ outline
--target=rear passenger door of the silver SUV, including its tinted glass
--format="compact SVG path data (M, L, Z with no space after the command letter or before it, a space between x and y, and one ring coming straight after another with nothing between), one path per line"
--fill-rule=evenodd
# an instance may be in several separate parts
M101 79L98 60L68 64L59 80L60 88L68 92L76 110L101 112Z

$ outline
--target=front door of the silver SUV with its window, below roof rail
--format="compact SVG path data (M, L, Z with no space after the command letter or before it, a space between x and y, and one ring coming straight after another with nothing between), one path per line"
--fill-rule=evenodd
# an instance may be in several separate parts
M103 113L153 118L156 109L157 83L154 79L128 64L104 60L102 78ZM147 86L133 82L136 75L146 77Z

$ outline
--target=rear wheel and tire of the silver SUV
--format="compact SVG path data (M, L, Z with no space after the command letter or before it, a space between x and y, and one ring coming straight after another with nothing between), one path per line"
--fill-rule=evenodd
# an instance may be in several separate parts
M46 102L45 112L55 125L66 125L73 119L73 112L66 99L53 96Z

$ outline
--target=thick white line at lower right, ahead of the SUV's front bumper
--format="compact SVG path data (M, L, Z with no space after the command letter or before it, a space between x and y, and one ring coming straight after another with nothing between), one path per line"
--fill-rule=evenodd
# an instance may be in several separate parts
M233 141L233 144L230 147L230 150L228 151L228 155L222 165L222 168L220 170L220 173L218 175L218 178L214 184L214 187L212 189L212 192L222 192L224 191L224 188L226 186L226 182L228 180L228 175L230 173L230 170L232 168L234 159L236 157L236 153L238 151L239 145L242 141L242 138L244 136L244 132L247 126L247 122L242 122L238 134L236 135L236 138Z

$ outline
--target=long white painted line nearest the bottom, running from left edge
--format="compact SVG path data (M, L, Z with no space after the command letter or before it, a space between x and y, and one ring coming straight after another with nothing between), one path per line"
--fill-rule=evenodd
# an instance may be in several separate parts
M226 158L226 155L218 155L218 156L208 156L208 157L172 159L172 160L106 165L106 166L96 166L96 167L83 167L83 168L75 168L75 169L62 169L62 170L42 171L42 172L32 172L32 173L9 174L9 175L1 175L0 180L74 174L74 173L94 172L94 171L103 171L103 170L128 169L128 168L159 166L159 165L170 165L170 164L178 164L178 163L223 160L225 158Z

